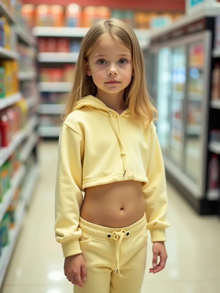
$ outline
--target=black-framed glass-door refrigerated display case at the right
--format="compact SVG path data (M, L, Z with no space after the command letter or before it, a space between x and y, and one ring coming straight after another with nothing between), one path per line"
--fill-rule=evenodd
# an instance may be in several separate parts
M155 66L150 94L157 103L156 126L167 178L199 214L216 214L220 195L219 187L210 192L208 167L212 158L208 149L212 50L218 15L220 4L215 4L182 18L152 33L146 49L149 68Z

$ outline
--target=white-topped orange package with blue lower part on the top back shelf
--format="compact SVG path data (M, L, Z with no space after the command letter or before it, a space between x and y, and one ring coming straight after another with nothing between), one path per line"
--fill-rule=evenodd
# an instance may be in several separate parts
M67 5L65 11L65 21L68 27L79 27L81 26L82 8L78 4L71 3Z

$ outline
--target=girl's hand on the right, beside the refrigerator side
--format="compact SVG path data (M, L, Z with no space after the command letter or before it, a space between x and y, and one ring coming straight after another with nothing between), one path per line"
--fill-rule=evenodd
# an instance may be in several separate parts
M160 256L160 262L157 264L157 258ZM167 261L167 251L164 242L153 243L153 268L150 268L150 273L158 273L165 268Z

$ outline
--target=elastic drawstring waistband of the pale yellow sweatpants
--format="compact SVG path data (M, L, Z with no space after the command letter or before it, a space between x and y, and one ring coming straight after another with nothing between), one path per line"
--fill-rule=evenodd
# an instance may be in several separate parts
M110 228L87 222L82 217L79 219L79 228L84 235L100 240L111 240L112 233L126 231L125 238L133 237L147 229L146 215L134 224L121 228ZM112 239L113 240L113 239Z

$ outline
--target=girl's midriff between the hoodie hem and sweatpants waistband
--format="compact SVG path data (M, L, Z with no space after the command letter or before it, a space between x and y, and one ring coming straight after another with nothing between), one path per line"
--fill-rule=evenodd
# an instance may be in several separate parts
M128 180L86 188L80 215L99 226L121 228L140 220L144 212L142 183Z

